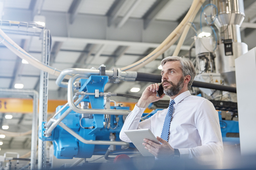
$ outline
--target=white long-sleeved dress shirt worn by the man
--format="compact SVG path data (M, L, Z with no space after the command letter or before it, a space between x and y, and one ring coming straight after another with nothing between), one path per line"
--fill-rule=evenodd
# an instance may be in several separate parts
M220 123L213 104L205 98L192 96L189 91L175 97L174 101L169 143L172 148L179 149L180 158L199 158L206 162L213 160L209 156L222 159ZM155 136L161 137L168 108L140 122L144 111L145 108L136 105L126 117L120 132L121 140L131 142L124 131L136 129L150 129Z

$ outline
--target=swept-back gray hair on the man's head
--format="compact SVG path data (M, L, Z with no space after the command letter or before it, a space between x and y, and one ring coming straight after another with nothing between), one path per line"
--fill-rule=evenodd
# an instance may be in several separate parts
M185 57L178 57L178 56L169 56L162 60L161 65L163 66L167 62L171 61L179 61L180 62L180 68L182 71L183 77L186 75L190 75L190 81L188 82L188 89L190 89L194 78L196 76L196 71L193 62L191 62L188 58Z

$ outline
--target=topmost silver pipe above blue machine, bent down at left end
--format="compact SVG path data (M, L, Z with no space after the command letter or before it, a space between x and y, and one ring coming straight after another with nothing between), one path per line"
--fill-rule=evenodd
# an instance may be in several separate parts
M60 87L68 87L67 82L62 82L68 74L85 74L85 75L100 75L100 70L92 70L92 69L65 69L61 71L59 77L56 80L56 84ZM106 75L113 75L114 71L106 70ZM88 76L87 76L88 77Z

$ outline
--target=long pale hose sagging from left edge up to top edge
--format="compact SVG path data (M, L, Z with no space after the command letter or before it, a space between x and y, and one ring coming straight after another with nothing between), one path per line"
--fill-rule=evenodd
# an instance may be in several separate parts
M146 64L150 63L151 61L155 60L159 55L162 55L165 50L167 50L171 45L175 43L175 41L179 38L181 32L187 25L188 21L193 21L193 16L198 12L201 4L204 3L205 0L194 0L191 4L188 13L186 14L185 18L181 21L177 28L159 45L153 52L149 55L144 57L139 62L135 62L129 66L123 67L121 70L129 70L129 71L136 71L139 70L141 67L145 66ZM186 37L186 36L185 36ZM43 64L42 62L38 61L33 56L29 55L25 50L19 47L14 41L9 38L2 29L0 29L0 41L9 48L14 54L19 56L20 58L26 60L29 64L37 67L38 69L48 72L52 75L59 76L60 70L53 69L52 67ZM183 43L181 43L183 44ZM178 47L178 46L177 46ZM70 75L66 75L66 79L70 78Z

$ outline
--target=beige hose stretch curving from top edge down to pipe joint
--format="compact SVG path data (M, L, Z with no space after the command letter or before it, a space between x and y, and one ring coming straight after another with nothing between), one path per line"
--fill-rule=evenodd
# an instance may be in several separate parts
M185 28L185 25L187 25L189 19L193 18L194 13L196 14L199 11L201 5L204 2L205 2L205 0L194 0L193 3L191 4L191 7L189 8L189 11L186 14L185 18L181 21L181 23L178 25L178 27L175 28L174 31L163 41L163 43L161 43L161 45L159 45L155 50L153 50L153 52L148 54L146 57L142 58L142 60L140 60L138 62L135 62L135 63L133 63L131 65L128 65L126 67L123 67L121 70L122 71L127 71L127 70L129 70L129 71L136 71L136 70L139 70L141 67L145 66L149 62L155 60L155 58L157 58L159 55L163 54L163 53L159 53L158 55L155 55L157 52L159 52L159 50L164 48L164 46L166 46L166 44L170 43L170 41L172 41L172 39L174 37L176 37L176 36L179 37L180 36L181 32ZM174 41L174 43L175 43L175 41ZM166 50L167 50L167 48L166 48ZM148 60L149 58L151 59L150 61ZM136 68L132 69L135 66L136 66Z

